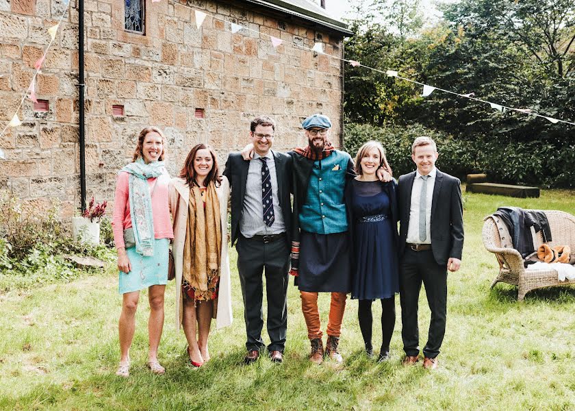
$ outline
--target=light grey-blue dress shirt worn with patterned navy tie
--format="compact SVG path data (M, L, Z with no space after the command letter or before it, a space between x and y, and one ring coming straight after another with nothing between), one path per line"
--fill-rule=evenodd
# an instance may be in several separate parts
M261 155L253 154L248 169L248 179L246 181L246 194L244 195L244 206L242 207L242 216L240 217L240 232L246 238L252 238L255 235L267 236L270 234L281 234L285 232L285 223L283 214L279 206L279 195L277 192L277 174L275 168L275 159L272 151L268 151L265 157L266 164L270 171L272 182L272 202L274 204L274 223L268 227L264 223L264 208L262 203L261 192Z

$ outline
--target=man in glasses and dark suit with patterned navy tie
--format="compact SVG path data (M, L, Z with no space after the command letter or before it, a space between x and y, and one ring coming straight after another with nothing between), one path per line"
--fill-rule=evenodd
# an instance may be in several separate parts
M268 298L268 351L274 362L282 362L288 328L288 271L290 270L290 228L292 206L290 182L292 158L272 151L275 122L258 116L250 125L254 155L244 160L231 153L224 175L231 185L231 244L238 251L238 271L244 297L247 364L264 349L261 310L266 273Z

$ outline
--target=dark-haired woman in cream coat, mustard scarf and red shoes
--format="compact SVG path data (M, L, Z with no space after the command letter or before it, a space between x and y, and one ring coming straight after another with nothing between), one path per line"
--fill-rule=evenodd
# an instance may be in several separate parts
M188 356L196 367L209 360L207 338L212 318L218 329L232 321L227 255L229 192L227 178L219 175L214 151L203 144L192 148L180 176L170 182L176 327L183 326Z

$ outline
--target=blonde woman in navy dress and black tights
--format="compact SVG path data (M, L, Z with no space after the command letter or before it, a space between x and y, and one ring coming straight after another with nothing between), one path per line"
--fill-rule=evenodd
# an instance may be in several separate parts
M366 142L355 158L357 177L348 185L346 201L353 236L351 297L359 300L359 328L368 356L372 347L372 301L381 300L383 341L379 361L389 358L395 326L395 295L399 292L396 204L397 183L380 182L379 167L392 172L385 151L376 141Z

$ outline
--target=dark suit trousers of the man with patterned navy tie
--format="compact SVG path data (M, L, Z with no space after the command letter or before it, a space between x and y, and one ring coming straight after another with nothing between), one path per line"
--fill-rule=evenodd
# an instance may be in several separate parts
M266 272L266 295L268 298L269 351L282 351L288 329L288 270L290 248L287 240L264 243L261 240L245 238L240 234L235 246L238 251L238 271L244 297L244 319L246 321L248 350L265 347L261 339L264 315L261 303L264 285L261 275Z

